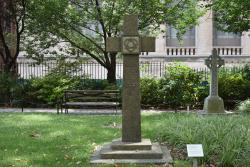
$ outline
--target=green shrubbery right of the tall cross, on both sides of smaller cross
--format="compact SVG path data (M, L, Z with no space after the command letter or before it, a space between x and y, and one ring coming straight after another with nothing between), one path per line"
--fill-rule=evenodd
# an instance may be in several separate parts
M219 96L228 108L250 98L249 66L221 69L219 72ZM209 81L202 72L174 63L167 67L163 78L141 79L142 105L178 109L187 105L202 106L209 95Z

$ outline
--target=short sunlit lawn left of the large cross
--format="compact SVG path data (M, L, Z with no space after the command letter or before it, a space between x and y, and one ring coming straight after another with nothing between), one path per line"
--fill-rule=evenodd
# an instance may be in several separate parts
M120 136L119 129L104 126L112 120L110 116L1 113L0 166L86 166L96 145Z

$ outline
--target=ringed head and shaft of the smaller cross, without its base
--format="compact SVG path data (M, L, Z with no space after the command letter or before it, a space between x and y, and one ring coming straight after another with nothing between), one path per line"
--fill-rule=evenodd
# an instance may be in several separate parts
M225 61L218 55L217 50L213 49L212 55L205 60L205 64L211 73L210 95L218 96L218 69L225 64Z

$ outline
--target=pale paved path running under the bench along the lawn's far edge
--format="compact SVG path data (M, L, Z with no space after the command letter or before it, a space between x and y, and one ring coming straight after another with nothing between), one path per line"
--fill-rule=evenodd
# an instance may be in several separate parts
M0 112L22 112L21 108L0 108ZM57 113L56 109L48 109L48 108L24 108L25 113ZM142 113L145 114L157 114L162 112L171 112L169 110L142 110ZM73 114L98 114L98 115L108 115L108 114L116 114L115 109L69 109L69 113ZM121 110L117 111L117 114L121 114Z

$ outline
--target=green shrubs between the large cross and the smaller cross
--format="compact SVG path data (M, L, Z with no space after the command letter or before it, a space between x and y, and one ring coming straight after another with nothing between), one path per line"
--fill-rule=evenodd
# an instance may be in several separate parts
M166 68L163 78L141 79L141 102L144 106L179 109L195 106L208 95L202 74L180 63Z

